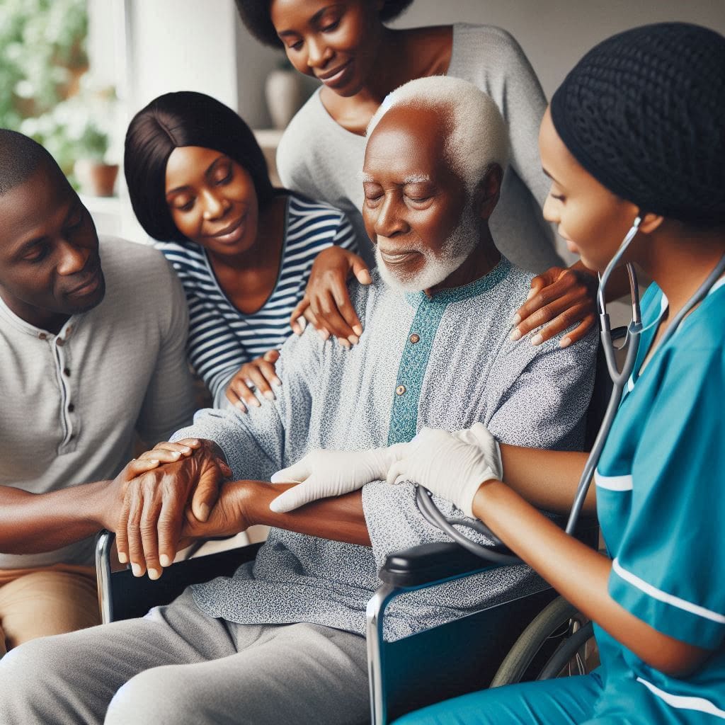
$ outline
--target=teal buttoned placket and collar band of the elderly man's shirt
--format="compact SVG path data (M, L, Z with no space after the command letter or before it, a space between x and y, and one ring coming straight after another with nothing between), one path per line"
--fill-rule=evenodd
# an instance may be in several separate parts
M463 287L444 289L428 297L425 292L406 294L411 307L417 307L408 339L403 348L393 394L390 413L388 445L407 443L418 432L418 404L421 400L423 379L436 339L438 326L451 302L461 302L492 289L508 276L511 263L501 261L487 275Z

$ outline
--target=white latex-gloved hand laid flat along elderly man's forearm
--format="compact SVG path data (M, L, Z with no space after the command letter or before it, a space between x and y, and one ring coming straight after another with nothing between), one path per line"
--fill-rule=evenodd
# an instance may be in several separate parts
M313 450L289 468L274 473L273 484L296 482L299 485L276 497L270 510L286 513L310 501L341 496L361 489L370 481L384 480L390 466L409 444L368 451Z

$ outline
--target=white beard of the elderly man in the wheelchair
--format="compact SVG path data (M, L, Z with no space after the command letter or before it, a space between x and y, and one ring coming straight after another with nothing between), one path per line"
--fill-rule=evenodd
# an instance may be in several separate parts
M395 247L396 252L420 252L425 262L423 267L413 274L401 274L398 270L390 270L380 253L380 244L375 247L375 260L378 272L383 281L391 287L406 292L418 292L440 284L457 270L468 259L476 244L479 233L473 209L468 206L463 210L460 222L444 241L438 254L431 249L419 247ZM392 250L391 250L392 251Z

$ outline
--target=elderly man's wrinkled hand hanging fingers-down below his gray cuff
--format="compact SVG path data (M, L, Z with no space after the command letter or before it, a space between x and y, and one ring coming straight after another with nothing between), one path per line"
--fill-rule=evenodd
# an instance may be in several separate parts
M176 445L163 443L154 450ZM178 550L186 506L190 505L197 520L206 521L217 501L220 481L229 476L231 469L218 447L202 440L186 457L182 453L175 462L125 483L123 508L115 527L120 562L130 560L135 576L143 576L148 568L149 577L158 579Z

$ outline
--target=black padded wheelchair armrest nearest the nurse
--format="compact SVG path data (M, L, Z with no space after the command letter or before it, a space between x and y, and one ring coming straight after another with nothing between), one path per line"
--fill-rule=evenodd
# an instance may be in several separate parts
M421 587L492 566L455 542L433 542L389 554L378 576L394 587Z

